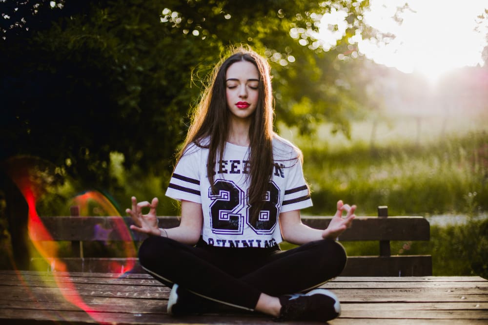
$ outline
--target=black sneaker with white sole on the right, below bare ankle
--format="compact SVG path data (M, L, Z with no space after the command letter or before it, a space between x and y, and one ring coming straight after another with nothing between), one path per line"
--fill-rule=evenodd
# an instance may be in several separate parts
M327 322L341 314L336 295L325 289L314 289L305 294L280 296L281 310L277 321Z

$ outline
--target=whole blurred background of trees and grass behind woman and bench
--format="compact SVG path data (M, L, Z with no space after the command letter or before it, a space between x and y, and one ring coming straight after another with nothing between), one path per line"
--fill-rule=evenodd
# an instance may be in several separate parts
M213 64L229 45L245 43L271 64L276 130L304 152L314 199L305 214L331 215L343 199L362 215L379 205L390 215L462 215L454 225L432 220L428 245L398 243L398 253L431 253L435 274L488 276L486 64L435 87L375 64L357 36L394 36L363 22L368 1L0 5L2 266L28 263L20 179L37 189L41 215L68 214L89 190L120 214L132 195L157 196L159 214L177 214L164 192L191 110ZM320 20L336 10L346 12L347 27L326 42ZM87 213L108 213L93 207ZM348 253L375 249L351 245Z

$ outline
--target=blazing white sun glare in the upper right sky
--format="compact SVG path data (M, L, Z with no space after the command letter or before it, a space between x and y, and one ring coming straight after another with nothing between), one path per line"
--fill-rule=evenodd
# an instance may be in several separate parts
M451 3L442 0L411 0L408 8L392 17L404 1L371 0L365 21L394 34L385 40L364 40L359 49L377 63L406 73L420 73L436 82L452 69L482 65L481 51L487 31L476 32L476 17L488 7L481 0Z

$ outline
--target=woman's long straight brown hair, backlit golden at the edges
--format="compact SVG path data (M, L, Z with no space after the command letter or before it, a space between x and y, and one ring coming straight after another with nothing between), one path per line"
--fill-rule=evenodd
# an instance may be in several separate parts
M246 175L246 181L250 181L248 203L255 208L252 209L253 215L250 218L253 223L263 207L264 193L268 189L268 182L273 172L273 97L270 67L264 57L247 47L240 46L232 49L230 54L215 66L202 99L194 111L192 124L182 150L177 155L177 160L180 160L191 143L208 148L207 175L212 190L215 190L214 166L217 157L222 159L224 156L231 114L227 108L225 75L227 69L239 61L251 62L259 73L259 99L249 128L250 170ZM209 139L208 143L202 142L205 138Z

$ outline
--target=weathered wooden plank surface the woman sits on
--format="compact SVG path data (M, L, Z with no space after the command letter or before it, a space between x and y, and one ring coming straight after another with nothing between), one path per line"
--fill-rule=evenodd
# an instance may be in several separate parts
M342 304L331 325L488 324L488 281L480 277L339 277L323 287ZM245 312L170 317L168 294L146 274L0 270L0 323L275 324Z

